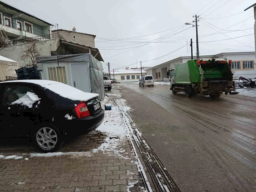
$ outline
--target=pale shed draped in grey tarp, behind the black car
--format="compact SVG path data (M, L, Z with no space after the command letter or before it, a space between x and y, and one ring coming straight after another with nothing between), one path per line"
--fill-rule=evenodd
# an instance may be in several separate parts
M63 79L62 83L77 89L98 93L100 100L105 97L102 64L91 54L39 56L36 60L42 79L59 82L62 82ZM84 90L84 87L90 87L90 91L88 89Z

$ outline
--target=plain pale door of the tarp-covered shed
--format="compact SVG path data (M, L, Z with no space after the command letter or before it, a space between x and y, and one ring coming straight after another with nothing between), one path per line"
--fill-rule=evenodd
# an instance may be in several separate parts
M91 92L88 64L71 64L73 87Z

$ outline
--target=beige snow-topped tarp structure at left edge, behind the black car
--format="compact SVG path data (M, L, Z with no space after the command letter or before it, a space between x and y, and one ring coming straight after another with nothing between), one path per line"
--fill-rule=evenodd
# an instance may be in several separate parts
M19 68L19 63L17 61L13 61L12 59L0 55L0 81L6 80L6 77L8 79L16 79L17 74L15 69Z

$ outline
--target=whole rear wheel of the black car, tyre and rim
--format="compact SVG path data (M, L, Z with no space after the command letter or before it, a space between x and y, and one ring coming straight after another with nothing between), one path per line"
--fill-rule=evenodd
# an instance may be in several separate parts
M40 124L34 133L33 143L38 151L48 153L58 151L64 143L64 139L60 130L54 125Z

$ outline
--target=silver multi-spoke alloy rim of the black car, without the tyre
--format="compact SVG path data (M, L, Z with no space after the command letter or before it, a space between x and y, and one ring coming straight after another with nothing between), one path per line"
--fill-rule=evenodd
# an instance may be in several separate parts
M43 127L36 133L36 142L44 149L51 149L57 144L58 136L52 128Z

